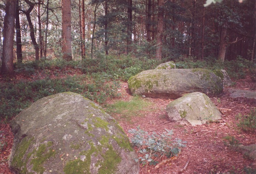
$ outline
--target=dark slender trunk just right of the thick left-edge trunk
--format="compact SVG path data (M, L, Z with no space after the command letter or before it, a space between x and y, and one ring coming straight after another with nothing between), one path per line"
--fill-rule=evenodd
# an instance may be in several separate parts
M16 14L15 14L15 26L16 26L16 46L17 46L17 61L22 63L22 42L20 33L20 23L19 23L19 0L16 0Z

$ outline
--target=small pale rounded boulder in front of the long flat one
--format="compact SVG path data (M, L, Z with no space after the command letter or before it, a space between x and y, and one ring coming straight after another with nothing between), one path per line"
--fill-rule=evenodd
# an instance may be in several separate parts
M207 95L200 92L186 94L170 102L166 113L172 121L185 121L193 126L221 119L218 108Z

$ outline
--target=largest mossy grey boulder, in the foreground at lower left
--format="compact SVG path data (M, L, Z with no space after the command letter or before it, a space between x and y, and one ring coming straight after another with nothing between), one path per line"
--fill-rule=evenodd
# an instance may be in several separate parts
M123 129L75 93L42 98L11 122L9 167L18 174L138 174Z

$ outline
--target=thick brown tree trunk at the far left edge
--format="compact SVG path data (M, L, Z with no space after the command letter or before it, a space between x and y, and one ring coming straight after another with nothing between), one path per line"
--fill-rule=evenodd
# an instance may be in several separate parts
M14 77L13 69L13 35L16 0L6 0L3 28L3 60L1 73L3 76Z

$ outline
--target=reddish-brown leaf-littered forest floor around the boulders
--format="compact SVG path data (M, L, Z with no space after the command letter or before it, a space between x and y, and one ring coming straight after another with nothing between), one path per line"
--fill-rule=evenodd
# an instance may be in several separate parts
M144 100L152 102L152 105L137 116L132 116L129 121L120 114L112 114L129 138L132 135L128 133L128 130L140 125L140 128L147 132L162 133L164 129L171 129L173 130L173 139L179 138L187 141L186 147L182 148L181 154L176 159L161 165L158 169L155 169L154 165L143 166L140 164L140 174L243 174L246 173L244 168L255 169L256 161L244 157L243 154L229 148L224 143L223 137L225 136L234 136L243 145L256 143L256 133L243 132L237 126L239 120L236 117L238 113L242 115L250 113L250 110L256 107L256 101L242 97L230 98L230 89L255 91L256 83L252 82L250 77L246 77L237 80L236 85L232 87L225 87L221 96L211 98L223 113L219 123L190 126L170 122L165 109L173 101L171 99L144 98ZM118 91L121 93L120 97L108 100L108 104L117 100L128 101L133 97L129 93L127 82L121 82ZM225 111L221 108L229 110ZM9 124L3 121L0 123L0 138L4 138L4 142L7 143L0 153L0 174L12 174L8 169L8 157L12 147L13 134ZM135 150L138 151L137 148ZM188 165L185 168L186 164ZM182 169L185 170L181 172Z

